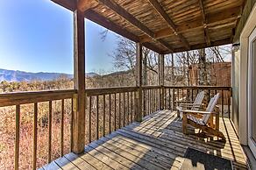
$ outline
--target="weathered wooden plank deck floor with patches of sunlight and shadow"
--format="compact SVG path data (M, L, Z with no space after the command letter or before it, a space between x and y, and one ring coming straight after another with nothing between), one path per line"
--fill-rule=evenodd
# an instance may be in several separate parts
M179 169L188 147L231 159L234 169L247 169L230 120L220 120L227 141L206 141L183 135L175 112L159 111L141 124L130 124L86 145L82 155L69 153L41 169Z

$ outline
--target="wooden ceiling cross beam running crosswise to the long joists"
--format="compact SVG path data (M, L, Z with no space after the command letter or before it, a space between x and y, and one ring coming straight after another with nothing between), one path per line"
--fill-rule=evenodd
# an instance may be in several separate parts
M223 21L229 21L229 20L233 20L233 19L237 19L239 17L238 14L239 11L239 7L235 7L235 8L231 8L231 9L227 9L224 12L221 13L210 13L208 14L208 24L207 26L209 27L210 25L217 25L220 22ZM188 23L183 23L180 25L176 25L177 26L177 32L178 33L182 33L182 32L192 32L195 29L198 28L202 28L202 18L197 18L193 23L190 23L188 25ZM167 27L164 28L158 32L154 32L155 36L154 39L163 39L163 38L167 38L170 36L174 36L174 32L171 28ZM140 42L150 42L152 41L152 39L150 37L148 37L147 35L143 35L139 37Z

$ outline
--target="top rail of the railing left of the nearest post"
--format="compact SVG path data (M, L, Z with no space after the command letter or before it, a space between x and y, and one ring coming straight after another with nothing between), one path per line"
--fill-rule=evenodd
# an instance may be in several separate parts
M11 92L0 94L0 107L73 98L75 89Z

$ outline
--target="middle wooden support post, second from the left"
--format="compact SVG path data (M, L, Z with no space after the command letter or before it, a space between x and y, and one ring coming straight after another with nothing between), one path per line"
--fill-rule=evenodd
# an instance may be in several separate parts
M136 121L142 121L142 46L140 43L136 44Z

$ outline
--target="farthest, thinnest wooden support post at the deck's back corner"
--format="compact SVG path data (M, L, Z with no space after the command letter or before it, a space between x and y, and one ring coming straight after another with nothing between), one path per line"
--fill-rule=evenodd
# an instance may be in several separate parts
M160 110L164 110L164 70L165 70L165 55L159 55L159 72L158 72L158 85L160 86Z

